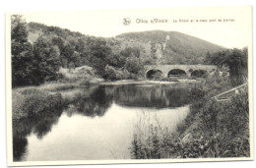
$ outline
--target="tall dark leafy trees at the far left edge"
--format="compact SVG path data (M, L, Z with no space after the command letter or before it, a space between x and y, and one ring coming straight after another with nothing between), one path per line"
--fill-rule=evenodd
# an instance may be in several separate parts
M28 41L28 28L22 16L12 16L12 85L42 84L58 79L59 48L47 37L34 44Z

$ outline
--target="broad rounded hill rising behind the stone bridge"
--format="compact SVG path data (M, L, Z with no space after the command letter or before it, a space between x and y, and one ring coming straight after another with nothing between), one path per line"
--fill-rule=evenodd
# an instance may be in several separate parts
M144 47L159 64L202 64L207 52L224 50L224 47L177 31L151 30L128 32L116 36L126 45Z

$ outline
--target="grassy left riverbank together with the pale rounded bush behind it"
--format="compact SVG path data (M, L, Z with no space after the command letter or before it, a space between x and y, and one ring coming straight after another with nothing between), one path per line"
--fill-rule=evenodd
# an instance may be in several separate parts
M13 119L26 118L43 111L59 108L64 105L64 101L70 101L72 97L63 98L57 92L102 81L96 77L93 68L87 66L75 69L61 68L59 73L62 78L55 82L13 88Z

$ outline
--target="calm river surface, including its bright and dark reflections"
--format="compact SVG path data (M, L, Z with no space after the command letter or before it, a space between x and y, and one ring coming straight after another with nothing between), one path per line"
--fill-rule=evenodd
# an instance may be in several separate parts
M65 108L14 128L14 161L130 159L136 123L157 116L174 129L189 113L194 86L109 83L60 91L72 100Z

